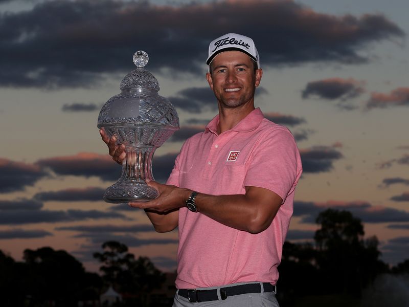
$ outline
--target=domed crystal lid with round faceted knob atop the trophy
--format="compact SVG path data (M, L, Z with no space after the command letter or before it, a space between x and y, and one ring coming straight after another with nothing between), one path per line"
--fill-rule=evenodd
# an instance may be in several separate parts
M131 71L122 79L120 85L121 91L146 89L158 92L160 90L157 79L144 68L148 61L149 56L145 51L140 50L134 53L133 63L137 69Z

